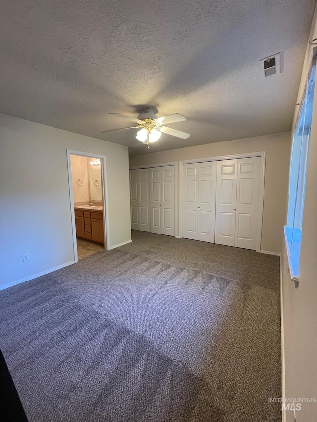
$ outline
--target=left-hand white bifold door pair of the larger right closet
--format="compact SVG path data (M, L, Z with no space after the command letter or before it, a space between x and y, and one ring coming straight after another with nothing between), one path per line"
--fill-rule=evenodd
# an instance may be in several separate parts
M215 161L184 164L182 188L183 237L214 243Z

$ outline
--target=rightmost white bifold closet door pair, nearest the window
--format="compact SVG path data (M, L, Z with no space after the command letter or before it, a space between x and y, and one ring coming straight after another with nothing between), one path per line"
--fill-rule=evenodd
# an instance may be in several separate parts
M215 243L256 249L260 157L217 161Z

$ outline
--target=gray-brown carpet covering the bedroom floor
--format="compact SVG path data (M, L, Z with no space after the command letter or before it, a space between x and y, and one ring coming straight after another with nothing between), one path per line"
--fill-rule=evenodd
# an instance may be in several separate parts
M133 233L0 292L30 422L281 420L279 259Z

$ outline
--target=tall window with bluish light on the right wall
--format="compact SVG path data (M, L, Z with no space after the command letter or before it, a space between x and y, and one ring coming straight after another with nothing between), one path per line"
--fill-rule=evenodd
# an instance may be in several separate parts
M292 280L298 280L306 168L313 115L315 73L316 53L313 56L312 66L297 118L290 162L287 223L284 226L284 233Z

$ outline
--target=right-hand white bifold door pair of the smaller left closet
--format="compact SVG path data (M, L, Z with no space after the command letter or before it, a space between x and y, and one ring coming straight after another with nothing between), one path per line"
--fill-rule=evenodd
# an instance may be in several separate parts
M175 235L175 166L150 168L151 232Z

